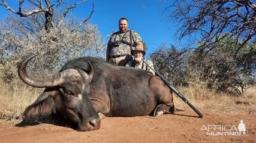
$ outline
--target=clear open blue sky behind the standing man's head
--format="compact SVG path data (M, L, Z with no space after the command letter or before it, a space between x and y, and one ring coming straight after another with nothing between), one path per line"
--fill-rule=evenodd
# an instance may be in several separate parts
M19 0L7 1L7 4L19 10ZM168 20L164 13L168 2L164 0L88 0L82 5L77 5L73 10L76 17L81 20L88 18L94 3L94 13L89 21L97 24L101 37L104 38L118 30L118 20L121 17L128 19L129 29L139 33L147 44L147 55L155 51L162 43L175 44L174 33L177 27ZM0 19L4 19L10 11L0 6ZM107 39L108 40L108 39ZM106 41L107 42L107 41Z

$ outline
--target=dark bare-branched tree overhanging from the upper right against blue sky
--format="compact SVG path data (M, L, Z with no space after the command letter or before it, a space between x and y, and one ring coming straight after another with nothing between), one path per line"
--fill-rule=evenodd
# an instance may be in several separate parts
M194 35L203 50L215 48L222 39L236 39L236 56L242 48L248 48L246 44L256 43L255 0L176 0L165 12L179 22L179 38Z

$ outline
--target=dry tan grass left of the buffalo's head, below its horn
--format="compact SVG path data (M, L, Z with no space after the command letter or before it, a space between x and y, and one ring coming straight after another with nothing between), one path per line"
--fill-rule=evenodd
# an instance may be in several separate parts
M43 89L34 89L20 83L20 80L7 85L0 82L0 120L17 122L21 114L40 95Z

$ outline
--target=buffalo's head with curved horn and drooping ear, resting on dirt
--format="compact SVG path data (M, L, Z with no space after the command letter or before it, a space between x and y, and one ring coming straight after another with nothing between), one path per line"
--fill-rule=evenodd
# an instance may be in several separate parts
M89 100L90 83L94 67L87 62L90 71L77 67L62 69L59 73L43 78L31 77L26 72L32 55L20 63L18 73L26 84L46 88L37 100L23 112L24 120L43 118L58 114L77 125L78 130L89 131L100 128L100 117Z

